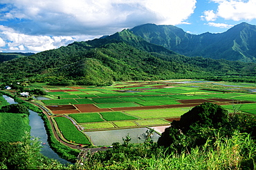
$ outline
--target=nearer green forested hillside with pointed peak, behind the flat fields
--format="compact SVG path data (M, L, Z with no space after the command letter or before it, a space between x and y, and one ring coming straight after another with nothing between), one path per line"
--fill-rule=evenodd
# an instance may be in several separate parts
M123 30L104 39L74 42L1 63L0 80L109 85L113 81L250 76L255 71L253 63L183 56Z

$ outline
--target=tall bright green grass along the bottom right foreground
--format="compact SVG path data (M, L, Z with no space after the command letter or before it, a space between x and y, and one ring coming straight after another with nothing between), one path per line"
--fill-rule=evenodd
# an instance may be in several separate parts
M213 145L212 140L216 140ZM135 145L134 145L135 147ZM143 147L143 146L140 146ZM124 153L119 153L124 154ZM256 144L248 134L235 133L232 138L209 139L203 147L177 154L158 152L152 156L123 161L86 162L85 169L255 169Z

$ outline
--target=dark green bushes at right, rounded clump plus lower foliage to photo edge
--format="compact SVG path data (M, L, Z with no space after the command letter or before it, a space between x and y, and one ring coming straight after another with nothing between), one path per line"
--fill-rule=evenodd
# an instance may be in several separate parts
M229 116L226 109L212 103L203 103L183 114L181 120L174 120L158 139L158 145L172 146L181 153L185 149L204 145L208 138L216 134L230 137L238 130L252 134L255 138L255 128L253 116Z

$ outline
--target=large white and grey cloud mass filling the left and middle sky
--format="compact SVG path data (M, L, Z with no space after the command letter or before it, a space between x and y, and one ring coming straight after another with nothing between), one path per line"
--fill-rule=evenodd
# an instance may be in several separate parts
M0 25L0 37L8 47L0 50L30 52L144 23L186 23L196 8L196 0L1 0L0 4L0 19L15 22Z

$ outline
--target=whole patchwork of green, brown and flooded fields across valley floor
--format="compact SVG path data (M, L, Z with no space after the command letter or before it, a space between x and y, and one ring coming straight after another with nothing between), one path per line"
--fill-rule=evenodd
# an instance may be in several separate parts
M40 83L33 84L35 87ZM132 142L151 127L161 129L201 103L256 114L256 85L194 80L117 82L107 87L50 86L35 100L49 110L67 142L111 145L127 134ZM155 130L154 140L163 132Z

